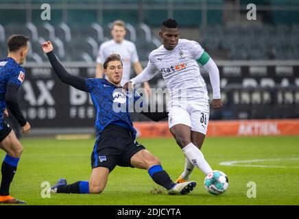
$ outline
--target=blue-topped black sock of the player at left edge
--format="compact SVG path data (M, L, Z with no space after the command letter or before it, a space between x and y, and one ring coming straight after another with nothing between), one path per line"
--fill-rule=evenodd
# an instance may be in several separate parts
M0 196L8 196L10 194L10 183L14 179L16 166L18 166L20 158L11 157L6 154L1 166L2 180L0 185Z

